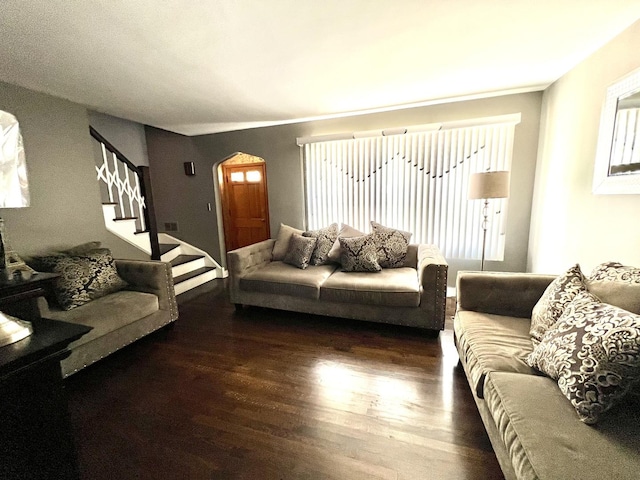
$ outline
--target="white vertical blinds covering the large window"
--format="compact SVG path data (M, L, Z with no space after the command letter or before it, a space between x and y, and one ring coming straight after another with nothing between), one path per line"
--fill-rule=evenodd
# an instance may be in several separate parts
M517 118L517 120L516 120ZM447 258L479 259L482 201L467 200L469 177L511 170L519 115L437 131L317 141L299 139L309 229L369 222L406 230ZM486 258L502 260L508 199L489 205Z

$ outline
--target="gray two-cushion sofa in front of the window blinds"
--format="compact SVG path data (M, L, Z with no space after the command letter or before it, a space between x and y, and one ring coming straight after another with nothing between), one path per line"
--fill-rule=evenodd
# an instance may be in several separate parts
M410 245L401 268L343 272L335 263L302 270L272 261L274 244L270 239L227 253L229 296L237 307L444 328L448 265L434 245Z

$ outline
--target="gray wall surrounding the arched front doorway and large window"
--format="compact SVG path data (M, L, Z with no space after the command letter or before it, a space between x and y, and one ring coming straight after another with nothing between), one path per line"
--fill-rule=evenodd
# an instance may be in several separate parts
M542 92L534 92L197 137L147 128L158 222L160 225L168 221L179 222L181 231L176 236L209 252L224 264L215 209L208 212L206 204L215 201L214 165L229 155L240 151L265 159L271 232L275 236L281 222L303 228L302 164L296 137L521 112L522 122L516 127L514 145L505 260L488 262L487 268L523 271L527 261L541 102ZM182 173L183 161L195 162L196 177L188 178ZM458 269L479 269L479 261L448 260L451 285Z

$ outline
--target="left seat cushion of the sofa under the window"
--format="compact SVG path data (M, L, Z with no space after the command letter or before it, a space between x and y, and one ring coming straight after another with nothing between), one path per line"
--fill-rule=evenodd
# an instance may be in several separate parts
M312 265L301 270L284 262L271 262L240 279L240 289L318 299L320 286L336 265Z

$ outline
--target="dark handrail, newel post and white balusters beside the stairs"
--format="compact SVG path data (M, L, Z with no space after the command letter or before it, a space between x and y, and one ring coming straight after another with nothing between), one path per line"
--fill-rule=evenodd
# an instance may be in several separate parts
M109 200L111 202L114 201L112 188L115 186L115 188L118 190L118 196L120 199L119 204L123 217L127 217L127 215L125 214L126 204L123 204L122 202L123 195L126 195L129 201L129 211L131 217L139 217L139 215L135 214L136 212L134 212L133 205L134 201L138 203L138 210L140 213L142 213L140 222L141 230L146 231L149 234L151 258L153 260L160 260L158 225L155 218L153 195L151 193L151 176L149 173L149 167L135 165L92 126L89 126L89 133L95 140L100 143L102 148L103 165L100 167L96 165L96 171L98 173L98 180L104 181L107 185ZM115 169L115 172L109 170L105 150L108 150L112 154L113 158L119 160L126 167L124 180L119 178L119 172L117 168ZM133 187L129 183L129 171L133 172L134 174L135 186ZM115 184L109 181L110 178L114 178L115 180L117 180ZM132 196L129 191L126 191L126 186L128 186L130 191L133 193L135 193L135 191L137 190L139 192L139 198L135 197L135 195Z

